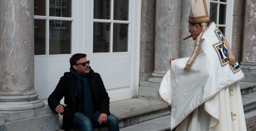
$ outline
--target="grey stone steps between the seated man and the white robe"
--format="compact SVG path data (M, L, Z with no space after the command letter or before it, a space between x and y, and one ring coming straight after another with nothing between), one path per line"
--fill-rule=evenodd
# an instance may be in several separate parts
M118 118L120 131L144 131L144 128L147 131L170 130L171 112L168 105L163 101L138 98L115 101L110 103L110 112ZM61 128L61 115L59 123ZM58 131L63 130L59 129ZM73 129L72 131L77 130ZM93 131L107 131L107 128L94 129Z

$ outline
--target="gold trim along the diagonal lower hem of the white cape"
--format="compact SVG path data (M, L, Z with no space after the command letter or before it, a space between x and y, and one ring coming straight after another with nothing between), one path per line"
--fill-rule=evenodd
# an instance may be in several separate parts
M243 76L242 78L238 79L237 81L231 83L231 84L228 84L227 86L219 89L216 93L212 94L211 96L209 96L207 99L205 99L204 101L200 102L197 106L195 106L189 113L187 113L182 119L180 119L180 121L173 127L176 127L178 126L178 124L180 124L190 113L192 113L197 107L201 106L201 104L203 104L204 102L208 101L209 99L211 99L211 97L215 96L216 94L220 93L220 91L222 91L223 89L231 86L232 84L235 84L236 82L239 82L241 81L242 79L244 79L245 77ZM173 128L171 129L173 130Z

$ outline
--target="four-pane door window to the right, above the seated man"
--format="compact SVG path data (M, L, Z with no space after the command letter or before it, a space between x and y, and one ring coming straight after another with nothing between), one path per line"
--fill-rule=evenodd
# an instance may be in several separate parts
M93 1L93 53L128 52L129 0Z

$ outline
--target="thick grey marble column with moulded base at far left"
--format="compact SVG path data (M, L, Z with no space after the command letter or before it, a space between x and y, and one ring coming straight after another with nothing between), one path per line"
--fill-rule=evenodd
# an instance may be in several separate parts
M34 2L0 1L0 111L38 109L34 87Z

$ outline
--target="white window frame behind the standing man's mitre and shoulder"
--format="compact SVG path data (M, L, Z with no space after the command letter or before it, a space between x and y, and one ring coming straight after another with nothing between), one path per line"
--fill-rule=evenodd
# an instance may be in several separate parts
M227 0L227 2L220 2L220 0L207 0L208 14L210 12L210 3L218 3L217 9L217 22L219 21L219 8L220 4L227 5L226 10L226 24L220 25L216 24L216 27L225 27L225 38L228 40L230 48L232 47L232 30L233 30L233 10L234 10L234 0Z

